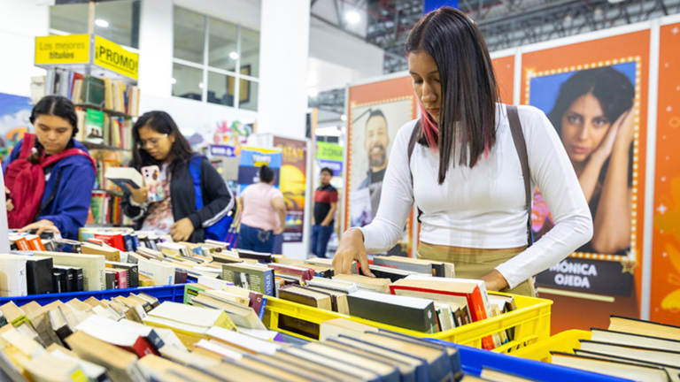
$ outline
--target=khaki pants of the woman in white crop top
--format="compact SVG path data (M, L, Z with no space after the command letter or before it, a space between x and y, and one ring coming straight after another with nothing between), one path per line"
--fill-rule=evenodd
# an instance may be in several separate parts
M490 273L498 265L505 263L519 253L456 253L434 248L421 242L416 254L419 259L436 260L454 264L454 271L460 279L479 279ZM529 278L512 289L502 289L500 292L508 294L522 294L536 297L533 278Z

